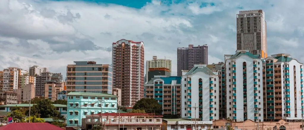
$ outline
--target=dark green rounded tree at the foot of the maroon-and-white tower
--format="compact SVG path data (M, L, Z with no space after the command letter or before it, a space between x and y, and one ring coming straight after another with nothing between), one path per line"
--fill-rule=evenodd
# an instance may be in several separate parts
M142 98L135 103L133 109L145 110L147 113L162 113L162 106L155 99Z

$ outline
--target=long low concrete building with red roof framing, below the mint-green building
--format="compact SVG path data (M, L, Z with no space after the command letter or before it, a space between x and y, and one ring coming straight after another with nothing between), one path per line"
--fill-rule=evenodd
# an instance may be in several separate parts
M94 125L102 125L106 130L161 130L162 117L143 113L104 113L87 115L81 122L83 130L92 129Z

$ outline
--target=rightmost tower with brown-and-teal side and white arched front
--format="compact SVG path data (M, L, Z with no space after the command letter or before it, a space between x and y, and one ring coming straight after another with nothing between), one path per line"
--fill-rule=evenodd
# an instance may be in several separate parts
M289 54L275 54L263 63L264 119L302 119L303 64Z

